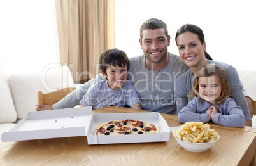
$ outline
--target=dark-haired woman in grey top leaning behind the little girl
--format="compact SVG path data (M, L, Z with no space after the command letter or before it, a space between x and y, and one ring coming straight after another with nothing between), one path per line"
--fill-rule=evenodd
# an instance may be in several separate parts
M252 118L243 91L243 84L239 79L236 68L226 63L212 60L211 56L206 53L206 42L204 41L203 31L196 25L183 25L177 31L175 41L181 61L186 63L190 68L176 79L174 97L176 99L177 115L188 104L188 94L193 87L194 74L204 65L216 63L227 72L232 97L236 101L236 104L243 110L246 119L245 125L252 126Z

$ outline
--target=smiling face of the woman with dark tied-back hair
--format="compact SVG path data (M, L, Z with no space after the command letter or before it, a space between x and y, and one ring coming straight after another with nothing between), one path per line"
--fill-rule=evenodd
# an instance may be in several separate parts
M176 42L180 58L188 67L201 68L207 63L204 55L206 44L201 44L197 34L184 32L178 35Z

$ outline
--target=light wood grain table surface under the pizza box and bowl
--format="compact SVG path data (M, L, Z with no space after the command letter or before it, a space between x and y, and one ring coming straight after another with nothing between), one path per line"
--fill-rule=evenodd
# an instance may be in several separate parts
M93 113L144 112L105 106ZM169 127L176 115L161 114ZM184 150L174 139L157 143L88 145L86 136L0 142L0 165L255 165L256 129L211 124L220 135L213 148Z

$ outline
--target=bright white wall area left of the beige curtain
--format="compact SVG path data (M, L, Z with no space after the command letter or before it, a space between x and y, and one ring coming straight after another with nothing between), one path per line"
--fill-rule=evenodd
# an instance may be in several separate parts
M53 0L0 0L0 74L59 62Z

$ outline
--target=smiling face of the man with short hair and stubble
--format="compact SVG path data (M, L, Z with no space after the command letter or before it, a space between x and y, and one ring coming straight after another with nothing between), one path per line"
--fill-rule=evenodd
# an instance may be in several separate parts
M153 63L166 61L167 47L170 45L170 37L166 36L164 29L145 29L143 38L139 39L143 53Z

